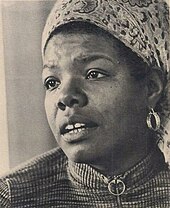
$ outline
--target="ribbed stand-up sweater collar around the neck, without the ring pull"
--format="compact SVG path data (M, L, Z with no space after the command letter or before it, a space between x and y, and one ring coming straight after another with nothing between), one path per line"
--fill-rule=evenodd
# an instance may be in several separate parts
M125 183L126 189L131 189L150 180L164 166L164 156L155 147L139 163L118 176L106 177L87 164L74 163L72 161L68 161L68 174L71 181L79 187L83 186L92 189L106 188L111 180L118 178Z

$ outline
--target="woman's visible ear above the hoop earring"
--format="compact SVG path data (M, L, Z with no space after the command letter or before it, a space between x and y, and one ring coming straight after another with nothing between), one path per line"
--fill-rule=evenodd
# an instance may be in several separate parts
M152 70L147 79L147 89L148 89L148 107L154 108L156 103L159 101L162 90L163 90L163 80L157 71Z

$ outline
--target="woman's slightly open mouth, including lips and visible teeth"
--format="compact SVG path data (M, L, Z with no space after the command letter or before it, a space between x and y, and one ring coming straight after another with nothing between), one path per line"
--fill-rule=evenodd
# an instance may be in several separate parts
M92 121L70 121L60 128L60 134L67 142L84 140L90 132L94 131L98 125Z

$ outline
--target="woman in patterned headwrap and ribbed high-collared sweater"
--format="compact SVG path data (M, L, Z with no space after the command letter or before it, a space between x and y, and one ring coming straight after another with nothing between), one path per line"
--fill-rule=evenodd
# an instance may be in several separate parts
M170 207L167 19L162 1L56 2L42 80L59 148L1 180L2 207Z

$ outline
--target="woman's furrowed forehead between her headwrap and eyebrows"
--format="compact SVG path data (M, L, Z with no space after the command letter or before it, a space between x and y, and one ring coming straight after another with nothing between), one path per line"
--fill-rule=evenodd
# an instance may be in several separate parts
M59 33L47 44L44 64L58 62L68 56L72 61L85 61L97 56L117 59L119 46L116 40L103 35L84 32Z

